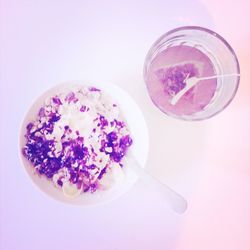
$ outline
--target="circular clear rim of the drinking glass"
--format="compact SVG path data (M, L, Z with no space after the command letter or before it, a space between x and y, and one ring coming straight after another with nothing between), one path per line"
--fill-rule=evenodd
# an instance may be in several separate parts
M156 102L152 99L151 95L149 94L149 91L148 91L148 94L149 94L149 97L150 99L152 100L152 102L154 103L154 105L156 105L156 107L161 111L163 112L164 114L170 116L170 117L173 117L173 118L176 118L176 119L180 119L180 120L185 120L185 121L202 121L202 120L206 120L206 119L209 119L215 115L217 115L218 113L220 113L221 111L223 111L231 102L232 100L234 99L237 91L238 91L238 88L239 88L239 83L240 83L240 65L239 65L239 61L238 61L238 58L236 56L236 53L234 51L234 49L231 47L231 45L225 40L225 38L223 38L221 35L219 35L218 33L216 33L215 31L212 31L208 28L204 28L204 27L201 27L201 26L182 26L182 27L178 27L178 28L175 28L175 29L172 29L166 33L164 33L163 35L161 35L150 47L148 53L146 54L146 57L145 57L145 61L144 61L144 66L143 66L143 77L144 77L144 82L146 83L146 80L145 80L145 75L146 75L146 72L147 72L147 64L148 64L148 59L150 58L151 54L154 52L155 50L155 46L157 46L157 44L159 44L165 37L175 33L175 32L178 32L178 31L185 31L185 30L196 30L196 31L200 31L200 32L204 32L204 33L208 33L209 35L217 38L218 40L220 40L224 45L225 47L227 47L227 49L229 50L229 52L231 53L232 55L232 58L235 62L235 65L236 65L236 71L235 74L239 74L237 76L237 80L236 80L236 85L235 85L235 89L234 89L234 92L231 96L231 98L219 109L217 110L216 112L212 113L211 115L209 116L206 116L206 117L193 117L192 118L192 115L188 115L188 116L177 116L177 115L174 115L172 113L168 113L164 110L162 110L157 104ZM147 86L147 84L146 84ZM148 86L147 86L147 90L148 90Z

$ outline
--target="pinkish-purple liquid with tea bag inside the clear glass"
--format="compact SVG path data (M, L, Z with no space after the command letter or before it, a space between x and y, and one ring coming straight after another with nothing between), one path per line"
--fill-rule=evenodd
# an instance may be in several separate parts
M146 83L152 101L165 113L191 115L202 111L212 100L216 79L203 80L189 89L175 104L173 96L185 88L185 79L215 75L211 60L200 50L187 45L167 48L151 62Z

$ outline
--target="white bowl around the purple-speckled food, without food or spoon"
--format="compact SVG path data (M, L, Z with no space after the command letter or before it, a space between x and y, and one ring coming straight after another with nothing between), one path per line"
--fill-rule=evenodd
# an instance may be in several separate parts
M133 172L133 170L129 168L129 165L128 164L126 165L126 161L123 167L126 177L122 183L115 185L113 188L109 190L105 191L98 190L95 193L83 193L76 198L71 198L65 196L61 189L53 185L52 181L48 181L48 179L46 179L46 177L44 176L39 176L35 172L32 164L22 155L21 152L22 148L26 144L26 138L24 137L26 133L26 126L30 121L36 118L37 113L40 107L43 106L45 99L57 93L70 90L74 85L98 87L107 94L109 94L114 99L114 101L118 103L133 138L133 145L129 150L130 151L129 154L133 155L133 157L135 157L136 160L140 162L142 167L145 166L149 149L149 136L148 136L146 122L138 105L129 96L128 93L126 93L124 90L122 90L116 85L106 84L106 83L96 84L84 81L72 81L59 84L47 90L44 94L42 94L34 101L34 103L31 105L30 109L28 110L28 112L24 117L19 133L20 159L24 166L25 171L28 173L33 183L41 191L43 191L50 197L65 203L70 203L75 205L100 204L121 196L122 194L127 192L137 181L138 177Z

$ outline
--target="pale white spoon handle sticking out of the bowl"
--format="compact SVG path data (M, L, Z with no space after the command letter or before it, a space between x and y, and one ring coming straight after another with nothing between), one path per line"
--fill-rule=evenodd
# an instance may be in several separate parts
M156 192L159 192L167 200L168 205L176 213L182 214L186 211L187 201L181 195L146 172L134 157L130 157L130 160L130 167L133 169L133 171L148 184L151 184L151 187L154 188Z

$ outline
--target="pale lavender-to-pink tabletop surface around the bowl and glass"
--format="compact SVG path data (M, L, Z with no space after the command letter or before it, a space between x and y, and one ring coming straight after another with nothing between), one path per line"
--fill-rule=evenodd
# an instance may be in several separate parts
M249 250L249 10L249 0L1 0L1 250ZM224 36L242 73L230 106L193 123L157 110L142 79L151 44L190 24ZM147 167L188 199L184 215L141 182L91 208L34 188L18 159L22 117L44 90L75 79L118 84L137 101L150 131Z

